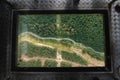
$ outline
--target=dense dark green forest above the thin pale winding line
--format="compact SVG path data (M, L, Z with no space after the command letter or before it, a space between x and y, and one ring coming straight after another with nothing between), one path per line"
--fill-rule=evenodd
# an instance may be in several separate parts
M20 15L18 34L26 31L41 37L71 38L96 51L104 52L101 14Z

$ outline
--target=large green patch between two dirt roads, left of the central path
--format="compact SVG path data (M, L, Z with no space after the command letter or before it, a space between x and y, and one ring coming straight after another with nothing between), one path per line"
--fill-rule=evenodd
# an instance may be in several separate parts
M26 50L24 48L24 44L27 44ZM19 44L19 48L21 48L21 53L26 53L26 55L28 55L29 57L34 57L34 56L42 56L42 57L48 57L48 58L56 58L56 49L51 49L51 48L47 48L47 47L40 47L40 46L36 46L33 45L29 42L22 42ZM22 52L23 51L23 52ZM25 51L25 52L24 52Z

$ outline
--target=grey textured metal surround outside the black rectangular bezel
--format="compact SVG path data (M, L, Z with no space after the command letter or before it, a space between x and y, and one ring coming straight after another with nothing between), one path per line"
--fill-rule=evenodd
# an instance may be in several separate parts
M48 1L47 3L42 3ZM64 6L55 6L57 3L49 1L64 1ZM67 1L67 2L66 2ZM92 3L89 1L92 1ZM72 3L71 3L72 2ZM79 3L76 3L79 2ZM83 2L80 4L80 2ZM63 3L60 3L63 4ZM59 5L60 5L59 4ZM120 0L0 0L0 80L120 80ZM48 6L47 6L48 5ZM47 6L47 7L46 7ZM111 70L72 72L44 71L32 72L27 70L17 71L12 68L12 51L15 49L15 35L12 24L12 10L101 10L108 11L109 18L109 47L111 51ZM26 12L26 11L25 11ZM27 12L26 12L27 13ZM2 15L2 16L1 16ZM14 25L14 24L13 24ZM106 28L107 29L107 28ZM13 33L13 34L12 34ZM15 33L15 34L14 34ZM17 35L15 35L17 36ZM12 43L13 42L13 43ZM108 56L108 58L110 58ZM108 66L108 65L107 65ZM14 66L13 66L14 67ZM86 77L87 76L87 77Z

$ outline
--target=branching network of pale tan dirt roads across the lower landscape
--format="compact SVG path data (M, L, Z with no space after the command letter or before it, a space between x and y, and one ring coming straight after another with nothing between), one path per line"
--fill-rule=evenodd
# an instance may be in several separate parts
M42 43L42 42L39 42L39 41L36 41L34 39L31 39L30 37L26 37L26 36L21 36L19 37L18 39L18 43L21 43L21 42L29 42L35 46L40 46L40 47L48 47L48 48L51 48L51 49L55 49L56 47L55 46L52 46L52 45L48 45L48 44L45 44L45 43ZM82 65L80 63L76 63L76 62L72 62L72 61L68 61L68 60L64 60L62 59L62 55L59 53L60 50L66 50L66 51L72 51L74 53L76 53L78 56L81 56L83 59L85 59L87 62L88 62L88 65L89 67L96 67L96 66L104 66L105 63L104 61L99 61L95 58L92 58L90 55L88 54L83 54L82 53L82 50L80 49L77 49L77 48L73 48L71 47L70 49L68 49L67 47L62 47L60 46L60 48L57 48L57 56L55 59L52 59L52 58L46 58L46 57L40 57L40 56L35 56L35 57L28 57L27 55L25 54L22 54L21 55L21 59L25 62L27 61L31 61L31 60L40 60L41 61L41 64L42 66L44 66L44 63L46 60L53 60L53 61L56 61L58 64L57 64L57 67L60 67L61 66L61 62L66 62L66 63L69 63L71 64L73 67L80 67L80 66L85 66L85 65ZM86 66L85 66L86 67Z

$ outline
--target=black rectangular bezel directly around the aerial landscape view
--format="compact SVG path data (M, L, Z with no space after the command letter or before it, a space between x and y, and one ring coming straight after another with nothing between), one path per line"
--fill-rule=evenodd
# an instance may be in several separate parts
M105 67L70 67L70 68L46 68L46 67L17 67L16 66L16 43L17 43L17 24L18 15L28 14L103 14L104 33L105 33ZM11 70L15 72L111 72L111 51L109 34L109 17L107 10L14 10L12 22L12 62Z

